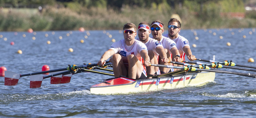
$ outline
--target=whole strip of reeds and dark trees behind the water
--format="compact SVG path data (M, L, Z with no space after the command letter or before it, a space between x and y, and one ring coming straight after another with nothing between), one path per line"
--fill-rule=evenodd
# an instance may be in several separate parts
M256 27L256 11L245 6L255 0L0 0L0 31L122 30L125 23L138 25L160 20L167 28L173 14L182 29ZM42 6L42 11L38 7ZM233 18L230 12L244 13Z

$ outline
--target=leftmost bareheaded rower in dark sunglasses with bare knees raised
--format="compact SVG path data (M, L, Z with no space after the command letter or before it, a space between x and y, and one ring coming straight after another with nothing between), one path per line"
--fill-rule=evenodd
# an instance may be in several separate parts
M105 60L112 56L115 77L123 75L133 79L146 79L145 66L150 65L147 47L135 40L137 28L133 23L125 24L123 30L124 39L113 43L101 56L98 65L103 66L106 63Z

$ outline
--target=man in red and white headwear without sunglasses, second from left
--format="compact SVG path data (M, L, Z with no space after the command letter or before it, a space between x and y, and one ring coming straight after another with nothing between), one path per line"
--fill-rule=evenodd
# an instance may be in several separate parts
M150 38L149 37L150 33L151 33L151 30L150 30L149 23L147 22L139 23L139 27L138 27L139 38L137 38L137 40L141 41L147 46L150 63L158 64L159 55L163 63L168 63L169 59L167 58L167 55L163 49L161 42ZM160 70L158 67L149 66L146 69L147 69L148 75L153 75L155 73L160 74ZM151 77L148 77L148 78L151 78Z

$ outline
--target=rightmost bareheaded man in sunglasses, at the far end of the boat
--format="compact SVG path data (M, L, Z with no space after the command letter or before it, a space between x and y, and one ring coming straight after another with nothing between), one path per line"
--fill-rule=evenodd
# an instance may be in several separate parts
M181 22L178 19L171 18L168 22L168 34L163 36L170 38L176 43L176 47L180 52L182 60L185 60L185 55L190 61L196 59L196 56L192 54L188 40L179 35L181 31Z

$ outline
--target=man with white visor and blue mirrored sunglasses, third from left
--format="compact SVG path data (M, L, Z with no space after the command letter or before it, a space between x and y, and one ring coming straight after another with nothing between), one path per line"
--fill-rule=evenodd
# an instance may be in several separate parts
M151 32L152 32L152 36L155 40L160 41L163 45L163 48L166 52L167 58L169 60L172 60L174 62L182 62L182 59L180 58L180 53L179 50L176 47L176 43L173 40L170 40L167 37L162 36L162 33L164 32L163 29L164 24L161 21L153 21L151 23ZM161 57L159 57L160 59ZM172 65L172 63L162 63L159 62L162 65ZM176 66L176 65L175 65ZM171 69L171 68L163 68L160 67L160 72L162 73L166 73L171 71L174 71L176 69Z

